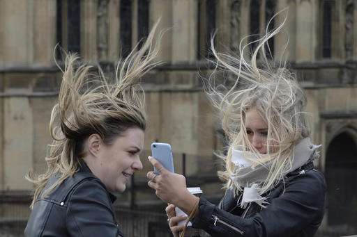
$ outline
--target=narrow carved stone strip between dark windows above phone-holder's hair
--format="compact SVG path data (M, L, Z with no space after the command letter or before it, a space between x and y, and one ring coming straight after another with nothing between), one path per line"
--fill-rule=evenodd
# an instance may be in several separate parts
M240 0L231 1L231 34L230 34L230 48L231 51L238 54L239 52L239 10L241 8Z

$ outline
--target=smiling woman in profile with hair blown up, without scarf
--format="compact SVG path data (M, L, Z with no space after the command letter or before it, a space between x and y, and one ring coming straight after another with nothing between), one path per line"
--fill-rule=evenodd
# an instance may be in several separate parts
M123 236L112 192L122 193L142 170L146 113L138 81L158 64L156 26L118 63L114 79L66 56L50 120L47 172L26 177L35 191L25 236Z

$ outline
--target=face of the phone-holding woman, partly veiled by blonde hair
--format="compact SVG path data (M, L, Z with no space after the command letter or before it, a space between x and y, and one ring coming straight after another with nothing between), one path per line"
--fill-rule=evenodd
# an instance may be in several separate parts
M255 108L245 113L245 128L250 144L261 154L266 154L268 125Z

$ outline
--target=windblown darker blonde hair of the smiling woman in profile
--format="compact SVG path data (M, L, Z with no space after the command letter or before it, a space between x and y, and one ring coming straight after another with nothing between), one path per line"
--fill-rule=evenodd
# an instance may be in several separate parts
M103 142L110 145L131 127L145 130L144 90L138 81L159 64L153 60L162 36L160 33L154 43L157 26L153 26L140 49L135 47L126 59L119 60L114 79L107 79L100 67L98 73L94 73L93 67L80 65L76 55L66 56L58 103L50 119L53 142L45 158L47 171L26 175L35 186L31 208L40 196L48 195L75 174L84 155L83 143L91 134L98 133ZM43 192L53 175L59 176L58 181Z

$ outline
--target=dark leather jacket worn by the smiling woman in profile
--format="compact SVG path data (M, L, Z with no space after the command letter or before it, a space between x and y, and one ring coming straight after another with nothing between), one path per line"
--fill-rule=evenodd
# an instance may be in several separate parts
M52 177L45 189L57 179ZM73 177L36 201L24 236L123 236L114 218L114 201L114 195L82 165Z

